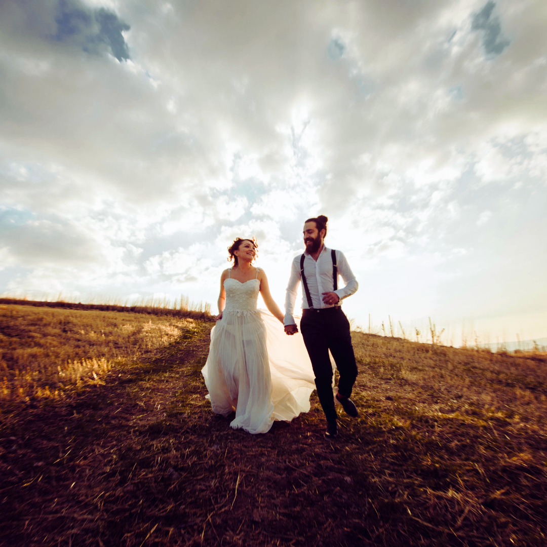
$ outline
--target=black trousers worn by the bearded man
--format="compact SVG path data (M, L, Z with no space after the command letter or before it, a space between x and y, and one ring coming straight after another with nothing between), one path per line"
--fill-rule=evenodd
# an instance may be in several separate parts
M340 373L338 391L350 397L357 377L357 364L351 345L350 322L340 307L302 310L300 331L310 356L317 397L328 421L336 420L333 395L333 369L329 350Z

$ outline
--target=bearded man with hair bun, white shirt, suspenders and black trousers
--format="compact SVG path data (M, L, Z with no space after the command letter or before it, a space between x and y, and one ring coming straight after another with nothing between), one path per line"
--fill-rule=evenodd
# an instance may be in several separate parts
M319 215L304 223L306 252L293 260L285 299L285 332L298 333L293 310L296 289L302 281L302 337L310 355L319 403L327 418L326 438L338 434L333 395L333 369L329 350L333 354L340 373L336 398L346 414L356 417L357 409L350 399L351 389L357 377L357 365L351 345L350 323L341 308L341 300L357 290L357 281L346 257L341 251L323 245L327 235L327 217ZM346 283L337 288L338 274Z

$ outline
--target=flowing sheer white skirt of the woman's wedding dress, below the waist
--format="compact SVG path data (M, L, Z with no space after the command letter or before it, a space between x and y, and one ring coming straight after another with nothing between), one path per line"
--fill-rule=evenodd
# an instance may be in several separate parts
M274 420L308 412L315 389L301 335L287 336L265 310L225 311L211 331L201 373L213 412L235 411L230 426L249 433L266 433Z

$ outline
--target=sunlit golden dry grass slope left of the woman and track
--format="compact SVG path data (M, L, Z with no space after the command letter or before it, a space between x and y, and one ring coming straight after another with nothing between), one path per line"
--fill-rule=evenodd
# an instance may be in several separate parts
M0 305L0 399L59 398L166 346L194 319Z

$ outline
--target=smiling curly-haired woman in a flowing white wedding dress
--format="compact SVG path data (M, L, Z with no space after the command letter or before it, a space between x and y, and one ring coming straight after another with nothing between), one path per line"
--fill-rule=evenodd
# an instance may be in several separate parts
M234 266L220 276L219 315L201 373L213 412L236 415L230 426L266 433L274 420L290 421L310 410L315 376L300 336L287 336L264 270L252 265L254 240L228 248ZM271 313L257 309L258 293Z

